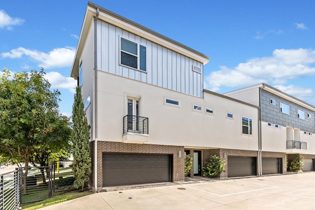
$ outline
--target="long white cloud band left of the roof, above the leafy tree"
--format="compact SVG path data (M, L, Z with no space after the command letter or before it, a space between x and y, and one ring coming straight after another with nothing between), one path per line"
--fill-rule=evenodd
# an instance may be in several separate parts
M0 56L10 59L19 59L25 56L33 62L37 62L39 67L47 69L71 66L74 54L75 48L73 47L55 48L48 53L19 47L10 52L1 53Z

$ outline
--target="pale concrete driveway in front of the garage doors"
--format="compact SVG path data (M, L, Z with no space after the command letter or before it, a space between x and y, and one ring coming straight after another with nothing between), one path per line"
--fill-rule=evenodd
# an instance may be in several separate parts
M42 210L314 210L315 173L95 193Z

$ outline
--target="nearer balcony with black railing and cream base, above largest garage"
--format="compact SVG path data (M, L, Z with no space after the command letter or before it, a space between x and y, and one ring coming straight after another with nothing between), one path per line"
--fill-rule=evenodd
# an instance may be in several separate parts
M144 144L149 141L149 119L126 115L124 117L124 134L125 143Z

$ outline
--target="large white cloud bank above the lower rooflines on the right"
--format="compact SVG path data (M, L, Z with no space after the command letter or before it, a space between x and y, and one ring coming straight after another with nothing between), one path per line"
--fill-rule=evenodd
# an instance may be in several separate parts
M272 57L253 58L234 68L221 66L205 77L205 87L246 87L258 83L285 84L299 76L315 75L315 50L276 49Z

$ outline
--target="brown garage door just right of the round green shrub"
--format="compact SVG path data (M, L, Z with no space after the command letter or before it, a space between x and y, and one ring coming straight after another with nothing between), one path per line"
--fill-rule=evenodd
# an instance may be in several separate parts
M227 157L227 177L256 175L256 157Z

